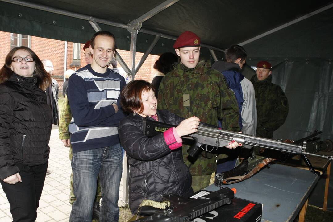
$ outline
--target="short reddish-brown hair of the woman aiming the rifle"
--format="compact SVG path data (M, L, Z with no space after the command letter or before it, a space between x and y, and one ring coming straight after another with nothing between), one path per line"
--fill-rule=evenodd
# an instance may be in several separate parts
M123 111L130 113L139 110L139 113L142 113L144 105L142 103L141 94L151 89L154 91L152 85L145 80L134 80L128 83L120 94L120 102Z

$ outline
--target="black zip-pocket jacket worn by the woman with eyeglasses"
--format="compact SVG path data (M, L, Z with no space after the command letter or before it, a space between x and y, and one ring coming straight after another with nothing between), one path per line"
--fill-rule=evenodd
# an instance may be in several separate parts
M36 78L13 74L0 84L0 178L19 172L15 163L47 162L52 127L51 108Z

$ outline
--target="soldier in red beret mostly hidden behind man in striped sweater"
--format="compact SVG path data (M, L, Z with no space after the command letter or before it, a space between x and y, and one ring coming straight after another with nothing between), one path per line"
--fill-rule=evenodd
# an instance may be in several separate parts
M90 53L89 50L89 46L90 46L90 40L86 42L86 44L83 47L83 50L85 51L85 57L86 57L86 62L87 64L91 64L92 63L92 55ZM72 146L70 143L70 133L68 130L68 125L71 122L72 119L72 113L71 113L71 109L69 107L69 101L67 99L67 95L64 95L64 103L63 103L63 107L61 109L60 112L60 119L59 119L59 139L61 139L61 141L64 143L65 146L69 147L69 160L72 160L73 158L73 150L72 150ZM74 190L73 190L73 172L71 173L70 176L70 194L69 194L69 202L71 204L74 203L74 201L76 200L75 195L74 195ZM99 203L100 200L102 198L102 193L101 193L101 186L100 186L100 178L98 177L97 180L97 190L96 190L96 196L95 196L95 200L94 200L94 206L93 206L93 217L94 218L99 218Z

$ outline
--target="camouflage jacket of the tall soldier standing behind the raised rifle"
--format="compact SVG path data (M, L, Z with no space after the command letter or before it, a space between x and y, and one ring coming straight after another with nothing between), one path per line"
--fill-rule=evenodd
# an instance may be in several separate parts
M217 125L219 117L224 129L239 131L237 101L227 88L223 75L212 69L210 62L200 61L194 69L175 64L174 70L162 79L158 109L169 110L183 118L195 115L212 125ZM183 145L183 159L192 175L207 175L215 171L215 155L203 151L197 159L190 159L188 147Z

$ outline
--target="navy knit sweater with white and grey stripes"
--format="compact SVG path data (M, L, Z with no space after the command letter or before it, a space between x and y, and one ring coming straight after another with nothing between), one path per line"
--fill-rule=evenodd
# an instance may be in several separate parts
M73 118L69 125L73 152L120 143L118 123L125 117L120 105L124 77L107 69L96 73L90 65L79 69L68 81L67 97ZM114 107L118 105L118 112Z

